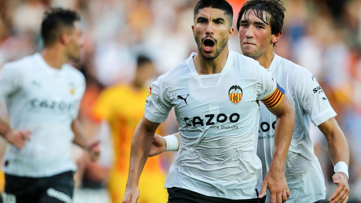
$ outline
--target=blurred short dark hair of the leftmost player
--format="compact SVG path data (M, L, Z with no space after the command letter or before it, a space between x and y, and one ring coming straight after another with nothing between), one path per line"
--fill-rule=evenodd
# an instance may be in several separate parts
M55 43L63 29L74 27L75 21L80 21L80 16L73 10L52 8L45 12L41 26L44 45L49 46Z

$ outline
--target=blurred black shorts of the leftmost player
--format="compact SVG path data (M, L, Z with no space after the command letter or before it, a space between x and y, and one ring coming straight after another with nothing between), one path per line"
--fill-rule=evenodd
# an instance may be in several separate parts
M44 178L5 174L3 203L71 203L74 172Z

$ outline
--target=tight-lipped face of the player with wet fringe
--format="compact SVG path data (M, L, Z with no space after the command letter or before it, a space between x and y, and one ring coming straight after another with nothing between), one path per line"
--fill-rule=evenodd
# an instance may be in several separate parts
M271 34L271 27L262 22L254 10L246 11L240 20L238 37L242 53L253 59L261 57L267 49L273 48L273 43L278 41L280 35L282 32L277 35Z

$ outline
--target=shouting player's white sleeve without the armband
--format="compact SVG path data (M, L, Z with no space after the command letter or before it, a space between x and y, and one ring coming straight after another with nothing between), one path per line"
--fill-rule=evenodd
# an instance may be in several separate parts
M147 99L145 100L144 116L149 121L161 123L168 118L171 108L168 87L158 78L149 87Z

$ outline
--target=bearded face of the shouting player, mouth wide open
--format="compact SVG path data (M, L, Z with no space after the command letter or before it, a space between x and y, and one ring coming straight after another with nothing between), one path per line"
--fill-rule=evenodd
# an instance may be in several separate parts
M213 60L222 52L233 34L234 28L225 12L216 8L203 8L192 25L198 52L205 60Z

